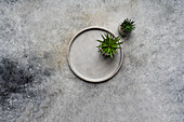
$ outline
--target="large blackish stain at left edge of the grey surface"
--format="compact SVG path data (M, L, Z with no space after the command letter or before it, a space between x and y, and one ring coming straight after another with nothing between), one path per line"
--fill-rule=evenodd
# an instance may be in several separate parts
M38 60L38 59L37 59ZM11 105L13 100L31 98L37 96L40 85L45 77L52 74L50 68L41 69L41 66L35 60L24 66L17 60L2 58L0 60L0 107L2 110L14 108Z

